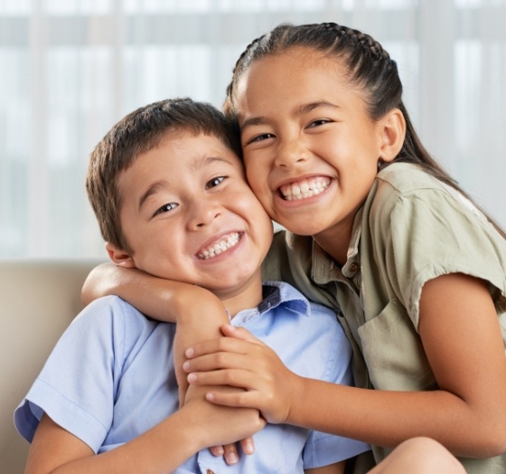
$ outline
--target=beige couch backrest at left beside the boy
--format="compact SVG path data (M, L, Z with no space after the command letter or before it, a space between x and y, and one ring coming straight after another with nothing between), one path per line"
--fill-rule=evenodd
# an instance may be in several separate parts
M82 308L98 261L0 261L0 472L22 473L29 444L13 412L58 337Z

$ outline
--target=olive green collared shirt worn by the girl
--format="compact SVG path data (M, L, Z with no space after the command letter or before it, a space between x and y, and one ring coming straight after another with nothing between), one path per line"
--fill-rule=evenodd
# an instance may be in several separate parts
M427 280L456 272L489 282L506 341L506 241L462 194L398 163L379 172L357 213L342 268L311 237L281 231L263 277L341 309L357 386L421 391L437 388L417 332L421 290ZM388 454L373 450L377 461ZM506 472L505 454L461 461L468 472Z

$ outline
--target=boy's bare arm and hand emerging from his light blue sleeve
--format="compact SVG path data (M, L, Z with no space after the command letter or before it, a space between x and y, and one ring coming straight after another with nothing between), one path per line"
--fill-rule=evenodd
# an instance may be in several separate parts
M136 439L95 456L87 444L44 414L25 474L172 472L199 450L252 435L264 425L257 410L194 400Z

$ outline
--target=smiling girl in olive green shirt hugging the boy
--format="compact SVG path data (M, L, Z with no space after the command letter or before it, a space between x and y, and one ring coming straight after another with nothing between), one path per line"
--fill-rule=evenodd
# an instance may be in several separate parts
M424 435L468 472L504 472L505 234L428 156L401 96L389 54L338 24L283 24L243 52L225 110L249 184L289 231L264 277L341 310L357 387L298 377L230 327L184 370L246 389L213 403L368 441L377 461Z

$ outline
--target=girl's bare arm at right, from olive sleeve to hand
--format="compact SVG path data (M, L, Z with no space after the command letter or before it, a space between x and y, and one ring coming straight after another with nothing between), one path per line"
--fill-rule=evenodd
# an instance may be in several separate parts
M427 436L457 456L487 458L506 450L506 357L483 280L450 274L428 281L422 290L419 333L440 387L436 391L366 390L302 378L237 328L224 332L247 340L225 337L194 346L184 365L192 384L247 389L208 393L214 403L257 407L269 422L380 446Z

